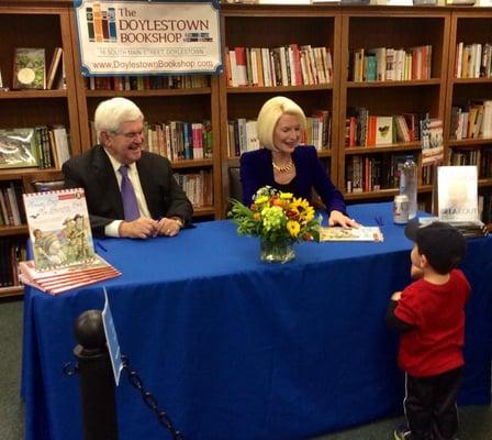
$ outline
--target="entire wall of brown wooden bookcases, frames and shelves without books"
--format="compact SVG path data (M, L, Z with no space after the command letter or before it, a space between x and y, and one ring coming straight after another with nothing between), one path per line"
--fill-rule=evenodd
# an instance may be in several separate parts
M492 139L451 139L451 108L472 99L492 99L492 78L455 78L456 46L492 42L492 12L487 8L390 8L339 6L222 4L222 47L275 48L290 44L329 47L333 78L329 84L277 87L230 87L225 75L211 76L210 86L194 89L87 90L79 73L79 48L72 2L68 0L0 0L0 68L3 82L12 80L15 47L44 47L47 64L54 48L64 48L66 89L0 91L0 129L64 124L70 131L71 153L91 147L89 120L98 103L114 96L134 100L149 122L209 119L212 124L213 157L176 161L179 173L210 170L213 205L195 210L198 218L224 218L230 197L230 168L238 157L230 155L227 121L256 119L262 103L277 95L292 98L306 116L313 110L331 113L329 148L318 155L348 202L389 200L396 189L346 194L346 163L350 157L413 154L421 165L418 141L378 147L346 147L347 109L365 107L370 113L393 116L429 113L444 121L445 160L455 150L483 151ZM432 45L429 79L406 81L354 81L349 62L356 48L409 48ZM225 57L224 57L225 61ZM32 191L35 180L59 178L59 169L0 169L0 185L13 182ZM480 193L490 197L492 176L481 177ZM431 207L432 186L418 186L418 197ZM25 224L0 227L0 240L24 242ZM20 295L19 286L0 288L1 296Z

